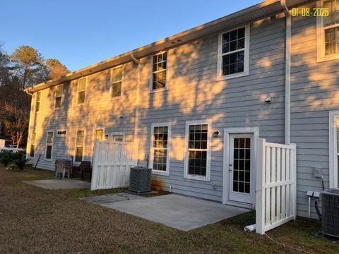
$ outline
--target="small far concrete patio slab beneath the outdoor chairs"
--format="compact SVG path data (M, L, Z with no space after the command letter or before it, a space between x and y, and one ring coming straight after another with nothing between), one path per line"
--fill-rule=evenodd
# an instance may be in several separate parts
M90 182L65 179L65 180L56 180L56 179L46 179L46 180L34 180L34 181L23 181L24 183L31 184L40 188L45 188L49 190L59 190L59 189L72 189L72 188L89 188Z

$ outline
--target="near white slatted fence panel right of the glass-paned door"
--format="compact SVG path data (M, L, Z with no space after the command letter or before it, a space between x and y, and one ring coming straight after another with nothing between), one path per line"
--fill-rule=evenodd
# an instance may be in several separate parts
M297 216L297 147L257 144L256 233L265 234Z

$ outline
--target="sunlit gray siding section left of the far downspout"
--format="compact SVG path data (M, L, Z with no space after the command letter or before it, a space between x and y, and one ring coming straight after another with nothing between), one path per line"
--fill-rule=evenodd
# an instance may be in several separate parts
M125 133L126 141L133 140L136 101L133 63L126 63L124 73L119 98L110 96L110 69L88 75L83 105L76 104L77 80L64 83L61 109L54 110L55 87L50 87L42 90L40 111L35 113L35 92L30 114L30 133L33 130L37 133L32 163L35 164L42 155L37 167L54 170L55 159L74 157L78 130L85 131L83 160L92 160L95 129L103 128L105 133ZM48 131L54 131L52 161L44 159ZM66 135L58 136L57 131L66 131Z

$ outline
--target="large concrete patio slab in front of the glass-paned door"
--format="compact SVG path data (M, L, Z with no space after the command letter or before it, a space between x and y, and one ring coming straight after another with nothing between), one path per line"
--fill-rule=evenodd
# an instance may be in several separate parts
M87 200L90 201L88 198ZM222 219L249 212L244 208L175 194L153 198L139 197L131 200L114 200L113 202L107 202L106 199L104 202L95 203L183 231L197 229L219 222Z

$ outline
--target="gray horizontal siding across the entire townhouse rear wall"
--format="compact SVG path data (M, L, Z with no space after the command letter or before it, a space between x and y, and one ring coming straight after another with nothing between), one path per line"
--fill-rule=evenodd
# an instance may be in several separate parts
M222 31L220 31L222 32ZM52 162L38 167L54 169L54 160L74 155L76 130L85 131L84 158L90 160L93 132L124 132L126 141L139 143L138 162L147 164L152 123L171 123L169 176L153 175L153 186L174 193L222 201L224 128L258 127L268 142L285 142L285 17L251 23L249 75L217 80L218 35L187 42L168 50L167 90L150 92L150 59L140 59L138 135L133 137L138 66L124 66L122 97L110 97L109 70L88 76L86 99L76 105L77 80L64 84L62 109L54 111L54 87L42 90L40 112L32 99L30 135L37 133L35 160L45 153L47 131L54 131ZM321 191L320 167L328 187L328 111L339 109L339 61L316 62L316 18L292 18L291 142L297 144L297 214L307 216L306 191ZM266 97L272 102L266 103ZM210 119L212 138L210 181L184 178L186 121ZM57 131L67 131L58 137ZM226 144L228 145L228 144ZM29 152L29 151L28 151ZM311 216L316 218L312 204Z

